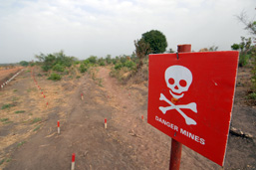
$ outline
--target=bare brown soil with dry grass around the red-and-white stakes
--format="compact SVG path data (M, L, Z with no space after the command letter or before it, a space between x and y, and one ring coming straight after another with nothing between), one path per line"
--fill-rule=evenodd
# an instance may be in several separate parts
M0 106L12 105L0 112L0 168L70 169L76 153L76 170L168 169L171 138L146 123L147 83L120 85L109 73L101 67L93 76L52 82L35 69L45 98L26 71L0 91ZM253 137L229 135L223 168L183 146L180 169L255 169L256 108L245 99L249 80L249 70L239 69L231 126Z

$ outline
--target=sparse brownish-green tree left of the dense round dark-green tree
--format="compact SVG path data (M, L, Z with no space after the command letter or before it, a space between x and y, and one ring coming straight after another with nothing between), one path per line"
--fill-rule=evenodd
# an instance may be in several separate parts
M134 40L134 46L136 57L139 60L136 69L139 70L143 66L143 58L151 52L151 49L150 45L146 43L143 38L137 41Z

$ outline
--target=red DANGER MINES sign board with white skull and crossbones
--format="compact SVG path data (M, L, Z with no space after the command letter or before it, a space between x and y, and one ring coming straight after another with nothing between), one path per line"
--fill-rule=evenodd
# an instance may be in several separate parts
M223 165L237 66L238 52L149 55L148 123Z

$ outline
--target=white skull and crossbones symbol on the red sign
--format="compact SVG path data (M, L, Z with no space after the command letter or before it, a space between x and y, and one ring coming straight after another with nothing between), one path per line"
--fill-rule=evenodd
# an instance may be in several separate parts
M181 98L184 96L184 91L187 91L189 86L192 84L192 74L191 72L183 67L174 65L166 69L164 74L164 79L167 87L169 88L169 93L174 98ZM159 100L164 100L169 106L163 107L159 106L159 109L163 114L166 113L166 111L175 109L177 110L181 116L185 119L185 122L187 125L196 125L196 121L194 121L192 118L188 117L181 109L191 109L193 112L197 113L196 109L196 103L190 102L188 104L179 104L175 105L173 102L171 102L169 99L167 99L163 93L160 93Z

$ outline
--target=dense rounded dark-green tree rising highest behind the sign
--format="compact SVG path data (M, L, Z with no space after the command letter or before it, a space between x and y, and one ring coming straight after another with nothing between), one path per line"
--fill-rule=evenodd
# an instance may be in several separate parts
M142 38L140 40L149 44L151 49L150 52L152 54L163 53L166 51L166 47L167 47L166 38L161 32L157 30L151 30L149 32L142 34Z

